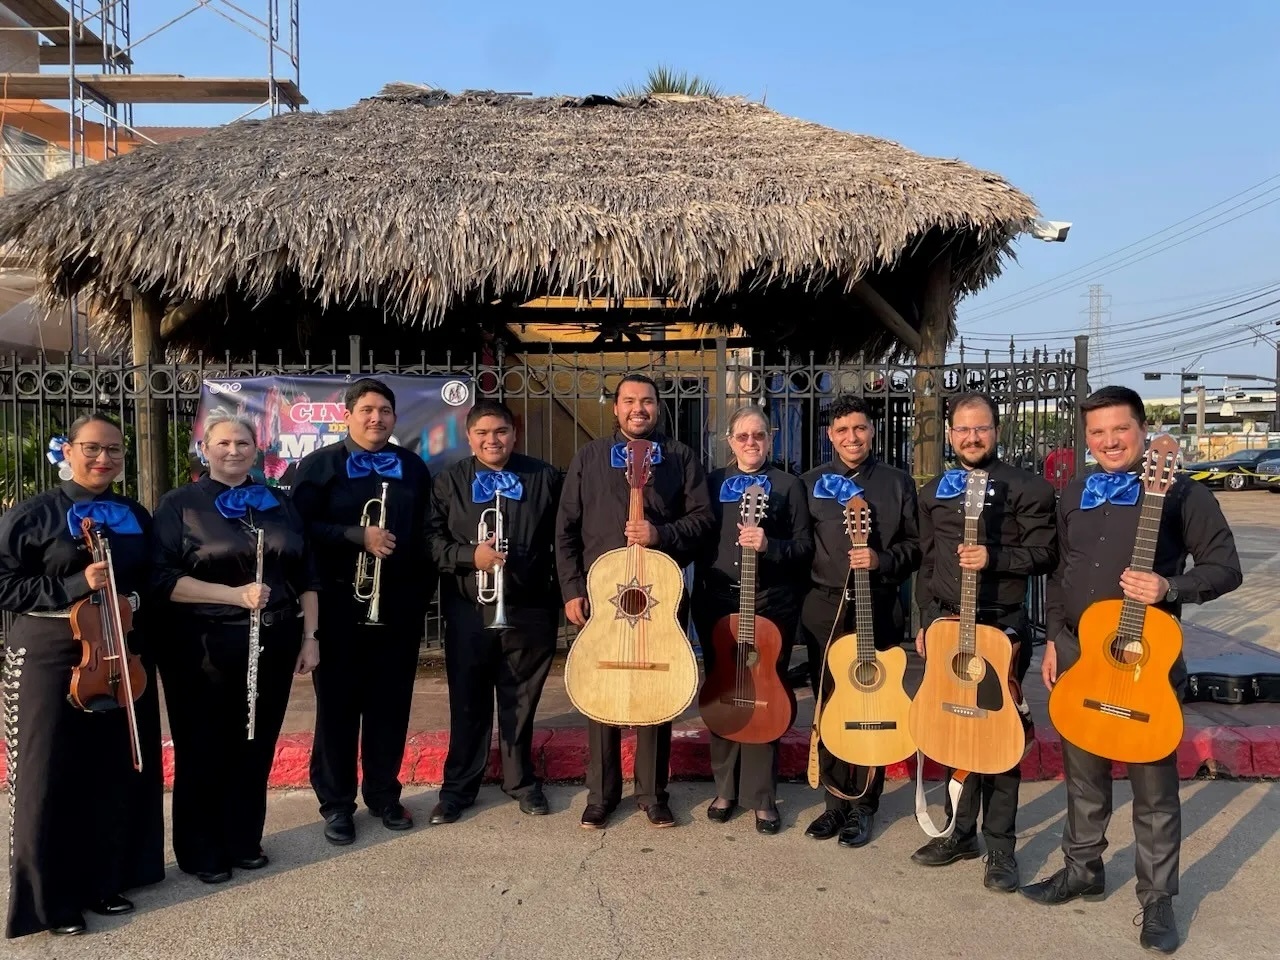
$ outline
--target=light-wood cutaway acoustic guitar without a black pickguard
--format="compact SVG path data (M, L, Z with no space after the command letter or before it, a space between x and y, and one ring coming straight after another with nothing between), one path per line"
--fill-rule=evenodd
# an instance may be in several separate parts
M845 526L854 547L867 545L872 512L861 497L845 504ZM841 760L886 767L915 753L906 724L911 698L902 686L906 653L901 646L876 649L870 572L855 570L852 581L856 632L838 637L827 654L835 686L822 708L819 733Z

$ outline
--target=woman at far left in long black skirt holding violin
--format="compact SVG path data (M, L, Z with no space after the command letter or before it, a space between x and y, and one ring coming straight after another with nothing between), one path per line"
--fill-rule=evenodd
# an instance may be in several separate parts
M50 442L63 481L0 517L9 771L5 937L84 932L84 910L164 879L155 671L142 643L151 517L111 492L124 436L92 413ZM127 643L125 643L127 641Z

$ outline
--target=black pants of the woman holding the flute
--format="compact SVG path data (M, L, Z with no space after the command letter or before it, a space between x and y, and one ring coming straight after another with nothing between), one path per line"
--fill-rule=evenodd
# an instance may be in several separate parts
M248 739L248 626L180 620L160 663L173 733L173 851L187 873L257 856L302 621L262 627Z

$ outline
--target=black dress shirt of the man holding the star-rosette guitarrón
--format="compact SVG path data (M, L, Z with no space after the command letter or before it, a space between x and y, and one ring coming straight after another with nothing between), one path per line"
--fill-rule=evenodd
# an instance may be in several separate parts
M645 439L662 447L662 462L653 465L644 488L644 517L658 529L654 549L685 567L712 527L707 472L678 440L657 433ZM627 545L631 488L626 471L609 458L613 444L625 442L621 431L591 440L568 465L556 520L556 568L566 603L586 596L586 571L600 554Z

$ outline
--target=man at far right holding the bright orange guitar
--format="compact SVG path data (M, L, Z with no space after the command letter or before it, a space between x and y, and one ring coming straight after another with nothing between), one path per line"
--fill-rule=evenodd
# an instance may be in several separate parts
M1042 666L1050 717L1062 736L1066 865L1021 892L1051 905L1102 896L1111 763L1123 760L1133 787L1139 940L1171 954L1181 846L1175 751L1187 684L1176 618L1184 603L1235 590L1240 558L1208 488L1175 480L1172 438L1155 436L1147 449L1137 393L1103 387L1080 411L1100 470L1073 480L1057 506L1059 564L1048 582Z

